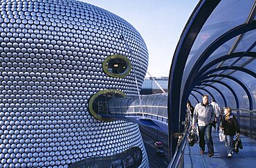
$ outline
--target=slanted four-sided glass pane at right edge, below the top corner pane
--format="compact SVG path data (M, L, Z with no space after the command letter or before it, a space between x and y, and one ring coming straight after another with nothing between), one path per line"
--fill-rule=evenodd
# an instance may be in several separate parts
M248 48L255 42L256 30L250 30L246 32L239 41L239 44L235 48L234 53L248 50Z

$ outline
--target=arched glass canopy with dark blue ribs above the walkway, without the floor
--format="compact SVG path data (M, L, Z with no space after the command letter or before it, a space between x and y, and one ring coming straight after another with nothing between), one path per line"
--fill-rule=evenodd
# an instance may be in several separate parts
M256 109L255 5L254 0L199 1L172 59L170 136L181 132L187 100L194 106L205 94L222 107Z

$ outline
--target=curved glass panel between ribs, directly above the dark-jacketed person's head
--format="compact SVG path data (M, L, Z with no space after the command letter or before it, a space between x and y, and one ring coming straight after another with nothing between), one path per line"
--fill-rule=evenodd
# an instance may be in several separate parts
M226 97L228 106L230 106L232 108L237 107L234 95L226 86L224 86L223 84L219 84L219 83L214 83L214 84L212 84L212 86L215 86L215 87L219 88L220 91L222 91L223 95Z

